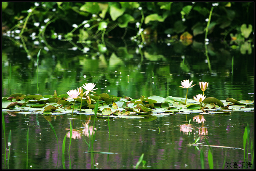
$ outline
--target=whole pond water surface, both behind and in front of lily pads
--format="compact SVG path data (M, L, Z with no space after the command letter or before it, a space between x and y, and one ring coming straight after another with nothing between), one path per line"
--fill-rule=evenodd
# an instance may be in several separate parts
M206 97L254 100L253 54L241 54L219 41L207 46L209 56L205 55L204 44L196 41L189 46L181 42L172 42L171 45L164 41L151 42L138 52L131 42L111 40L109 51L104 54L93 51L93 48L91 53L75 50L71 41L53 40L49 44L53 50L45 50L43 45L33 43L27 43L26 50L24 44L15 44L3 37L2 97L13 93L53 95L54 90L58 95L66 94L87 82L96 84L97 94L131 98L141 95L185 97L186 89L178 86L181 81L189 79L197 84L189 89L189 99L202 93L199 82L203 81L209 82ZM40 49L37 90L36 55ZM94 116L2 113L6 137L12 130L10 168L26 168L28 128L28 165L32 168L63 168L62 142L69 132L69 118L72 118L76 135L69 152L71 168L91 168L91 154L85 153L88 146L83 138L89 141L86 130L93 125ZM187 129L189 119L192 129ZM59 140L59 158L56 137L48 121L51 121ZM209 150L205 138L210 145L224 146L212 147L214 168L222 168L225 153L226 162L241 163L243 133L247 124L254 142L254 110L203 116L190 113L149 115L140 119L111 118L110 134L107 118L97 117L93 149L113 154L95 153L95 167L135 168L139 157L144 154L146 168L201 168L200 152L189 146L198 137L202 145L197 147L203 150L205 168L208 168ZM69 168L69 138L66 141L65 166Z

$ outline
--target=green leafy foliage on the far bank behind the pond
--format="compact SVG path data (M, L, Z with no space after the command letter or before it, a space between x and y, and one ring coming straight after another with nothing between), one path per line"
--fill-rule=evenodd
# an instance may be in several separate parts
M200 35L205 34L207 25L205 19L209 17L211 8L214 7L208 33L210 37L226 38L230 34L230 40L236 40L237 45L240 45L237 39L242 42L253 39L251 32L254 4L252 2L43 2L38 4L35 6L35 3L3 2L3 25L7 26L8 30L16 30L22 28L25 19L28 19L24 33L31 33L39 30L33 23L43 24L44 20L49 18L44 35L56 32L67 37L73 29L73 24L79 25L83 21L88 21L90 28L80 29L79 32L76 30L73 33L80 33L80 38L83 35L84 40L100 37L103 33L112 37L131 37L138 32L135 24L139 22L141 28L147 30L147 34L154 33L154 36L165 37L166 34L189 32L194 37L200 38ZM27 18L29 9L33 11ZM106 30L102 24L107 26ZM74 36L73 34L69 36Z

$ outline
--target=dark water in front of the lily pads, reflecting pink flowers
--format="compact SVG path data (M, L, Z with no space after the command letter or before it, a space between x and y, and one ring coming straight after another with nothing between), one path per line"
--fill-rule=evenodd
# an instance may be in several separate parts
M29 128L29 166L32 168L63 168L62 142L69 132L69 118L72 115L49 116L4 112L5 127L12 130L10 168L26 168L26 136ZM94 151L114 154L94 154L97 168L133 168L144 153L147 168L201 168L200 152L189 143L198 136L203 145L208 139L212 147L214 168L222 168L224 155L226 162L243 162L243 132L249 124L250 137L254 139L253 112L232 112L231 114L199 113L186 115L149 116L142 119L96 118ZM56 137L46 119L51 120L59 140L60 155ZM189 134L188 120L191 119ZM139 122L141 121L141 122ZM73 136L70 148L72 168L91 168L91 154L83 137L88 142L88 128L92 129L93 116L73 115ZM251 143L251 142L250 142ZM69 168L69 138L66 140L65 166ZM208 168L208 146L198 146L205 155ZM227 148L234 147L234 148ZM249 158L250 155L249 155ZM226 165L225 165L226 167Z

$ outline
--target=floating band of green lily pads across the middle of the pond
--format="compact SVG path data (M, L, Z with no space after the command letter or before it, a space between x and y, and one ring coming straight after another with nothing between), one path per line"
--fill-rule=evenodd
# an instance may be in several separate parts
M132 99L131 97L117 97L107 93L90 95L91 104L87 103L85 97L66 100L64 95L24 95L21 93L12 94L2 98L2 110L16 111L19 113L41 113L59 115L72 113L93 115L95 103L99 100L97 116L148 116L148 115L172 115L189 113L230 113L231 111L254 110L254 102L250 100L237 101L233 98L218 100L208 97L203 100L204 105L193 99L168 96L150 96ZM82 105L81 105L82 104ZM81 111L80 106L82 106ZM75 110L74 110L75 109ZM133 118L133 117L131 117Z

